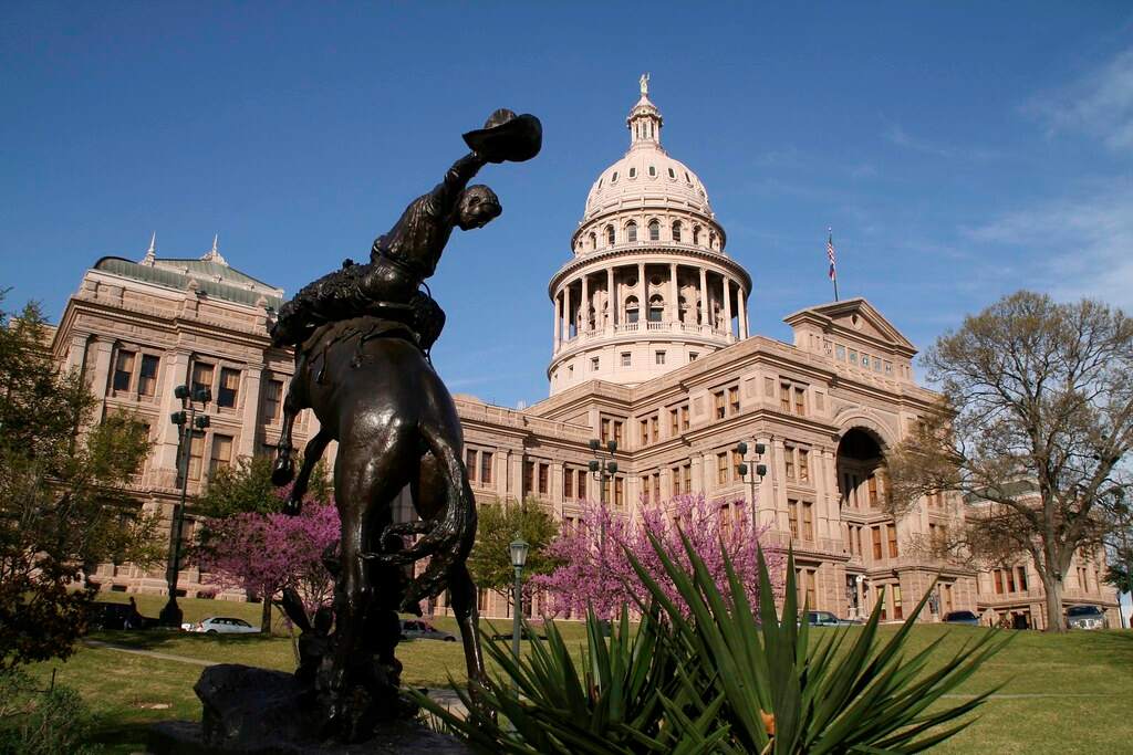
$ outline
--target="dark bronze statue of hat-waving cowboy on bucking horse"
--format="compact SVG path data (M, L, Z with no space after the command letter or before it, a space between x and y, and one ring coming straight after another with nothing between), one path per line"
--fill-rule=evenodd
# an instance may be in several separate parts
M305 286L272 326L276 346L296 348L283 430L272 479L295 484L298 513L312 467L339 443L334 496L342 521L334 591L334 630L314 675L325 735L365 739L375 723L398 718L401 664L398 610L450 591L469 680L484 675L476 587L465 560L476 535L476 505L461 461L462 435L452 397L428 349L444 314L419 289L433 275L453 228L483 228L501 213L486 186L468 182L487 163L538 154L542 126L529 114L497 110L465 134L471 152L432 191L415 199L370 250ZM291 430L313 409L320 430L295 474ZM393 501L409 486L420 520L393 522ZM407 535L418 535L404 543ZM404 569L429 558L415 577Z

